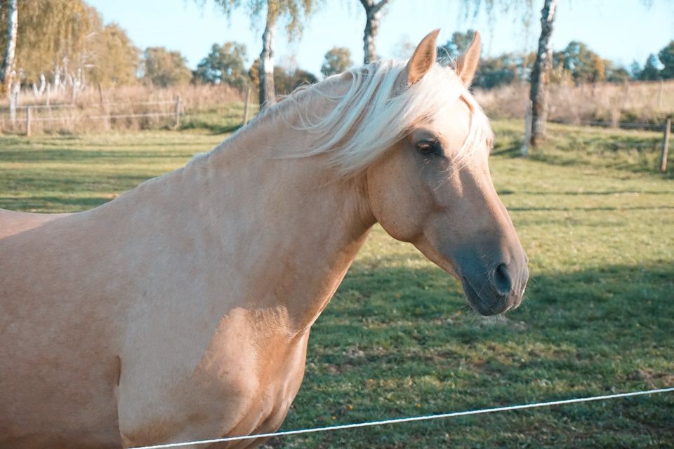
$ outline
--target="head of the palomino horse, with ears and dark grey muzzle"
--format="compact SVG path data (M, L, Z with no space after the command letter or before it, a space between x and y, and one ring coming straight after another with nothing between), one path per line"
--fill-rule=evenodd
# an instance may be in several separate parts
M475 311L500 314L520 304L529 273L489 174L489 121L468 91L480 34L451 69L435 62L438 31L397 74L393 95L413 99L400 114L414 119L366 169L369 205L388 234L456 276Z

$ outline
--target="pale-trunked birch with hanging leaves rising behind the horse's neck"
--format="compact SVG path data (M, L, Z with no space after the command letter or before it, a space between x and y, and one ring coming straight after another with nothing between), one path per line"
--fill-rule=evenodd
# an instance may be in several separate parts
M242 0L215 0L222 10L230 14L242 6ZM296 38L302 32L303 22L307 20L316 6L317 0L246 0L245 7L253 20L265 13L265 31L262 34L262 51L258 69L260 88L260 107L276 102L274 88L274 36L279 21L286 22L289 39Z

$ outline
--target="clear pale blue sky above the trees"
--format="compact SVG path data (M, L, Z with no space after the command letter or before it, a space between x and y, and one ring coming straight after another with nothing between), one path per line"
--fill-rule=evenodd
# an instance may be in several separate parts
M188 65L196 67L213 43L238 41L246 44L250 64L262 48L260 21L251 22L243 12L230 19L218 12L211 0L88 0L103 15L105 23L117 22L136 46L164 46L178 50ZM524 1L522 1L524 3ZM399 55L404 42L418 42L430 30L440 27L439 42L454 31L478 29L483 34L484 54L532 51L540 32L543 0L534 0L533 21L527 32L522 13L494 11L493 25L486 15L468 18L461 0L392 0L381 20L377 50L383 58ZM298 67L319 74L323 56L333 46L350 49L359 64L363 58L365 13L357 0L324 0L310 19L299 41L289 43L284 32L277 34L277 64ZM560 0L555 18L553 48L564 48L579 40L602 58L629 66L633 60L643 65L649 53L657 53L674 39L674 0Z

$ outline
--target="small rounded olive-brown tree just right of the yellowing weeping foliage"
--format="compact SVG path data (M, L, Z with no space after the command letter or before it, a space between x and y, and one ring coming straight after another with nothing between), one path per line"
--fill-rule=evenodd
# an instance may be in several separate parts
M192 79L192 71L186 63L187 60L179 51L169 51L164 47L145 48L143 79L160 87L185 85Z

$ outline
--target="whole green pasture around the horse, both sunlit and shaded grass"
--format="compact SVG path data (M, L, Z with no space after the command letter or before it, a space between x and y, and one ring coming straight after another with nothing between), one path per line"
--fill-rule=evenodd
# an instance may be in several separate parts
M496 122L491 168L530 258L522 306L480 319L379 227L312 330L283 429L674 386L674 180L658 133L550 126L529 159ZM0 207L84 210L223 135L0 136ZM622 142L654 148L623 148ZM670 161L670 167L674 164ZM274 448L674 447L674 394L291 436Z

